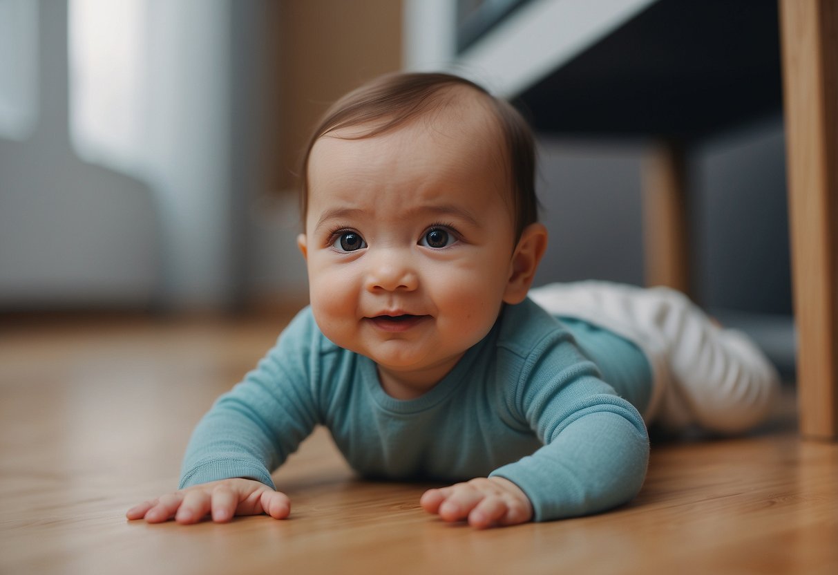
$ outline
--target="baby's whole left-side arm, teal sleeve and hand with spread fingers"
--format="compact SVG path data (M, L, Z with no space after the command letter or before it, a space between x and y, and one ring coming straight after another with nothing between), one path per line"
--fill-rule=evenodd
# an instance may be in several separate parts
M309 314L310 315L310 314ZM221 396L195 427L181 470L180 489L137 505L129 519L214 521L233 515L290 513L271 472L318 423L306 360L311 329L301 313L277 346L238 386Z

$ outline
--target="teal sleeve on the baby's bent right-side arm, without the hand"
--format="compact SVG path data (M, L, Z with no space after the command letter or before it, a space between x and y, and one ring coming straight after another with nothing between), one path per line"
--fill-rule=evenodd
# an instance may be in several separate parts
M643 418L570 334L557 330L532 346L509 403L544 446L490 476L517 484L535 521L608 510L638 494L649 462Z

